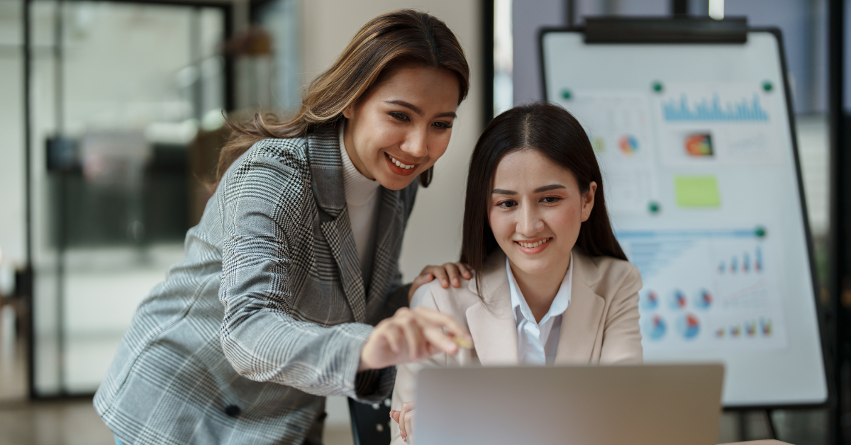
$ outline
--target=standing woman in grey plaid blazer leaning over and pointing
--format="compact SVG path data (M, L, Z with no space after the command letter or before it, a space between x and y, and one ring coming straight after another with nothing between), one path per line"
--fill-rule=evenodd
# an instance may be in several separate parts
M398 258L417 178L446 151L469 67L429 14L381 15L298 114L237 126L186 260L137 309L94 397L117 442L321 443L325 397L377 402L394 365L454 354L451 317L406 306L470 277ZM389 317L389 318L388 318Z

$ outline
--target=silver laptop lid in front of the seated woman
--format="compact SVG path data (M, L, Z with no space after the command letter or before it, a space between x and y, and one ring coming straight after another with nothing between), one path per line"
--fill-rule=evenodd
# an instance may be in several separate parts
M414 445L713 445L720 364L426 368Z

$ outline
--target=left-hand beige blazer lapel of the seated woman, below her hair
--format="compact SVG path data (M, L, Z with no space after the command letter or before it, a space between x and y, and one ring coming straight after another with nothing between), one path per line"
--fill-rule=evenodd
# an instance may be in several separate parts
M470 290L477 292L476 280L470 281ZM483 267L482 291L485 300L466 311L479 361L483 365L516 365L520 362L517 323L511 313L505 254L499 250L490 255Z

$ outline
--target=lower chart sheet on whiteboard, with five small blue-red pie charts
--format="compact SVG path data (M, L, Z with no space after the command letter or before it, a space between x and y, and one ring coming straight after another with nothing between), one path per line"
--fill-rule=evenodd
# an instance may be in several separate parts
M785 346L776 256L760 233L764 229L618 234L642 272L647 351Z

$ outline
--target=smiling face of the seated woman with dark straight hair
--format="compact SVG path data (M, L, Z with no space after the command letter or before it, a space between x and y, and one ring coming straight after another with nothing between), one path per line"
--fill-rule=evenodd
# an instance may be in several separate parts
M505 155L494 172L488 220L512 271L564 277L596 191L591 182L581 193L574 175L540 151Z

